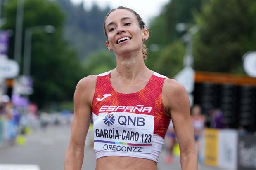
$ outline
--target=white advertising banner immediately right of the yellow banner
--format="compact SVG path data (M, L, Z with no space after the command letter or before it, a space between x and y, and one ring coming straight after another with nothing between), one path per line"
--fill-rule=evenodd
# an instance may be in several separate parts
M220 130L218 147L218 167L225 170L237 169L237 130Z

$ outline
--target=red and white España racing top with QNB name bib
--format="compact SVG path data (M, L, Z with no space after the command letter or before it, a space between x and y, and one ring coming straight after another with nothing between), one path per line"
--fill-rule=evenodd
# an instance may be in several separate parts
M97 151L152 153L154 142L164 140L170 123L161 99L165 78L154 72L140 91L123 94L112 87L110 71L97 76L92 102L96 156Z

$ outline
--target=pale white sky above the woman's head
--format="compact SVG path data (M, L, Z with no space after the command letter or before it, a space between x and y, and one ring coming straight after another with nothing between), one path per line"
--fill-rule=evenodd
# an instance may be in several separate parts
M161 7L169 0L71 0L74 4L84 2L85 9L90 9L94 2L101 8L109 5L111 8L124 6L135 10L148 26L150 18L157 16L161 12Z

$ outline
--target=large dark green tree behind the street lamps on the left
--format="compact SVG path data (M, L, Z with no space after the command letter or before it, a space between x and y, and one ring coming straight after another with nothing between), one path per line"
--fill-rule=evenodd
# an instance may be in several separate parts
M9 0L5 4L3 15L7 23L4 29L15 30L16 8L17 0ZM47 34L37 29L32 35L31 77L34 93L31 100L40 108L51 102L73 100L76 83L83 77L76 52L62 38L62 10L52 1L24 0L24 30L42 25L55 26L55 32ZM9 56L13 56L14 37L11 39Z

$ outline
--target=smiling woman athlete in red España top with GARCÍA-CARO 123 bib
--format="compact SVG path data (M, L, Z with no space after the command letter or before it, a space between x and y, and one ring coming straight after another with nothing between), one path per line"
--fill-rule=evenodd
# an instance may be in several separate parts
M156 170L171 119L182 170L197 170L187 93L146 67L145 23L132 9L118 7L107 14L104 30L116 68L78 82L65 170L81 170L91 116L96 170Z

